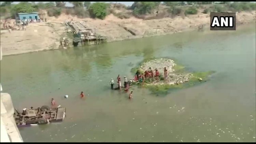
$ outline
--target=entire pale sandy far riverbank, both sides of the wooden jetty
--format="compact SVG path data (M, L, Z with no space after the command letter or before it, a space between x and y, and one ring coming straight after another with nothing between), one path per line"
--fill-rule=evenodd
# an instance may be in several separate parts
M237 13L237 26L255 23L255 17L256 11ZM76 21L84 21L88 27L95 29L98 34L108 38L108 42L195 30L200 25L204 25L204 29L208 29L210 23L210 15L201 12L187 17L177 16L175 18L168 17L151 20L135 17L119 19L112 14L108 15L104 20L72 18ZM63 23L69 19L70 16L62 14L58 18L48 18L48 22ZM132 35L124 27L132 30L136 35ZM65 32L65 28L60 24L56 24L55 29L60 33ZM60 37L55 30L43 23L30 24L26 31L12 31L11 33L7 31L2 33L1 30L3 55L58 49L59 40Z

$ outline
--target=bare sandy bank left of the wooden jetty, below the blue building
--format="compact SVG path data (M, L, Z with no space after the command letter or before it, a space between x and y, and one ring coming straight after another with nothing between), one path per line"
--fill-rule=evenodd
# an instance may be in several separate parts
M60 24L56 25L57 28L64 29ZM58 49L59 44L60 36L45 23L29 24L24 31L14 30L9 32L8 30L1 30L3 55Z

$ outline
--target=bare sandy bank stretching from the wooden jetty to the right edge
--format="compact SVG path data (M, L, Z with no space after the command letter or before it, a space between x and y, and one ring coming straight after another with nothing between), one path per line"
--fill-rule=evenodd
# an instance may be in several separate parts
M237 13L237 26L255 22L255 17L255 11ZM188 15L184 18L177 16L174 18L143 20L134 17L119 19L111 14L104 20L87 18L85 23L87 26L95 28L97 33L107 37L108 41L117 41L193 30L198 29L201 25L208 28L210 26L210 15L199 12L197 15ZM132 33L126 29L132 31Z

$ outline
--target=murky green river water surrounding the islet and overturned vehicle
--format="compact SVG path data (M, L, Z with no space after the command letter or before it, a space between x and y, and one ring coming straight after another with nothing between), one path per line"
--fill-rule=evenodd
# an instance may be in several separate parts
M20 128L25 142L255 142L255 31L253 24L5 56L3 92L20 110L51 98L67 109L63 123ZM131 78L131 68L153 57L216 73L167 96L133 87L129 100L110 90L111 78Z

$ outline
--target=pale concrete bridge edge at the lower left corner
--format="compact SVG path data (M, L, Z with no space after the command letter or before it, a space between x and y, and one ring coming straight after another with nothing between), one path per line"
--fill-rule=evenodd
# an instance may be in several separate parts
M2 47L0 46L0 60L2 60ZM1 133L0 142L23 142L19 133L15 119L13 117L14 107L12 98L9 93L2 93L2 86L0 84L0 112L1 112Z

